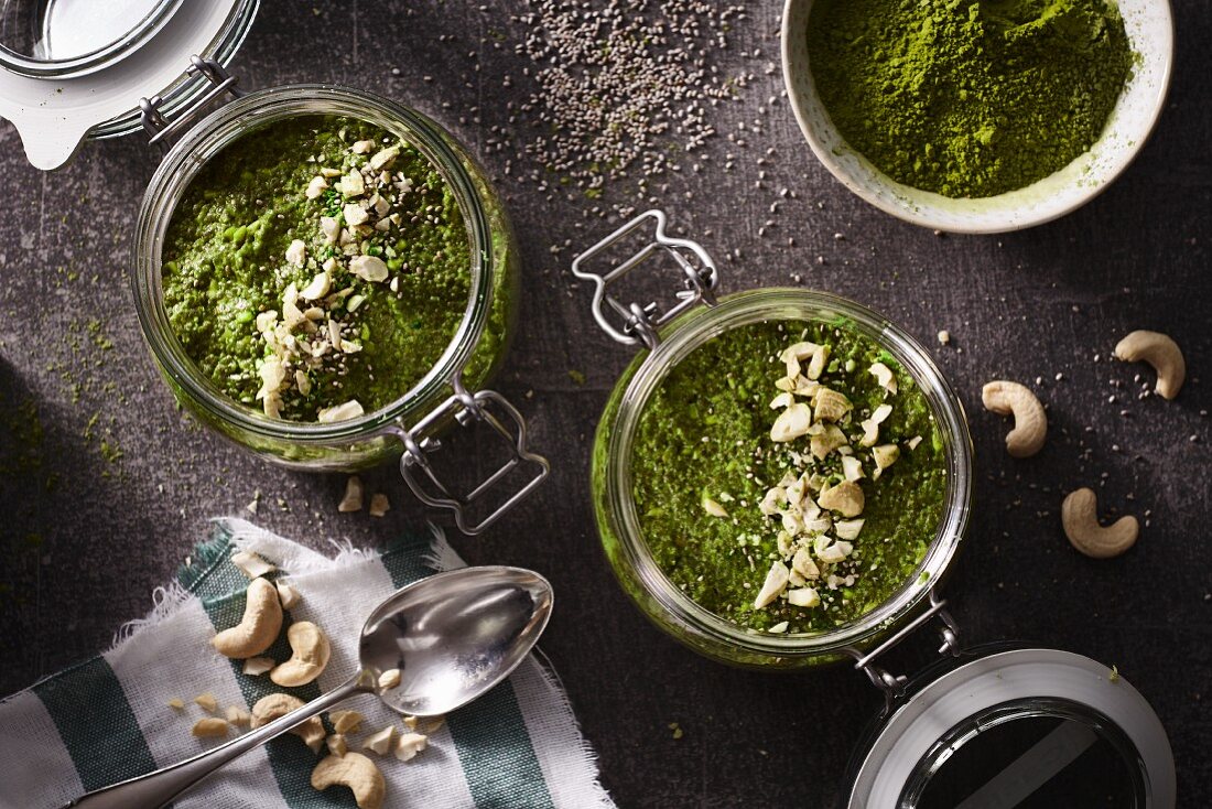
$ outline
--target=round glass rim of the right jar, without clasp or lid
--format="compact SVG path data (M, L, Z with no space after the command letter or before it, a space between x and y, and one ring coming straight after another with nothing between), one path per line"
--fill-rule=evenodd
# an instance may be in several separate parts
M833 318L827 318L833 315ZM925 557L891 597L858 619L833 629L773 634L749 632L711 613L669 580L644 540L630 496L630 458L640 416L651 394L669 371L691 352L731 329L767 320L829 321L837 317L886 348L921 388L943 439L947 458L944 513ZM656 351L638 357L634 375L619 397L610 425L605 469L605 518L619 541L640 586L667 617L705 634L718 644L749 654L784 659L842 653L899 622L927 598L943 577L964 540L972 511L973 451L964 405L926 349L908 332L873 309L847 298L813 290L761 289L721 297L711 308L697 308L661 330ZM641 605L642 609L642 605Z

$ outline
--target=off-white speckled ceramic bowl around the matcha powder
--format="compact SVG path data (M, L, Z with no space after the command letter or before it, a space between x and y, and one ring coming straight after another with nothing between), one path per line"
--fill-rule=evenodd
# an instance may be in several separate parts
M1174 50L1170 2L1120 0L1119 8L1137 61L1102 137L1060 171L996 196L953 199L904 186L846 144L812 81L807 46L812 0L787 0L783 10L783 80L817 159L871 205L937 230L1019 230L1064 216L1097 196L1132 163L1161 115Z

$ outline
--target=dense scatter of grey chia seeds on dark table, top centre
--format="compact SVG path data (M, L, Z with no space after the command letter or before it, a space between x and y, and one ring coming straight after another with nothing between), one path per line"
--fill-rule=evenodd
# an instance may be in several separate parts
M743 5L703 0L536 0L514 17L537 85L519 113L536 132L524 152L548 176L521 178L594 199L607 181L638 178L645 194L645 178L681 171L716 135L710 109L748 85L710 59L744 18Z

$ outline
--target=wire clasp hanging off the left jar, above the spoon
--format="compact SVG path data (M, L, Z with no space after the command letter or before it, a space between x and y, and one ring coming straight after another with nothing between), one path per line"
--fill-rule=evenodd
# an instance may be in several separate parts
M427 506L446 508L453 512L454 523L458 525L458 529L464 534L475 535L496 523L510 508L516 506L518 502L530 495L547 478L550 472L550 465L547 462L547 458L527 449L526 420L522 418L516 408L509 404L508 399L496 391L469 393L459 376L454 377L451 387L454 389L454 394L425 415L412 429L400 428L393 432L404 441L400 474L404 475L412 492ZM503 414L505 421L503 422L498 418L494 411ZM433 433L448 425L451 420L461 427L473 427L479 423L486 425L509 445L509 460L476 485L475 489L462 496L452 492L439 479L429 461L429 455L441 449L441 441L434 438ZM481 522L469 524L468 509L471 505L522 462L538 466L538 473L532 475L521 489L515 491ZM418 469L424 473L423 477L417 475ZM425 483L427 480L428 484Z

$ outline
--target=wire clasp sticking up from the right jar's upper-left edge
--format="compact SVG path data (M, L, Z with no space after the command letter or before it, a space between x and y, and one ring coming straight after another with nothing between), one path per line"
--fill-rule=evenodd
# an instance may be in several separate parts
M628 260L619 263L607 273L598 274L588 272L584 266L601 255L607 247L619 243L638 232L647 220L657 223L656 234L652 241L640 247ZM610 294L610 285L628 274L644 261L652 257L657 251L664 251L681 269L682 287L678 291L678 303L670 309L662 311L656 301L646 306L639 303L623 303ZM688 257L697 261L692 262ZM657 330L664 324L676 318L682 312L697 306L699 302L707 306L715 306L715 286L720 274L715 268L715 262L703 249L703 245L690 239L678 239L665 233L664 211L651 210L640 213L630 222L623 224L614 233L610 234L589 250L576 257L572 262L572 274L577 278L594 284L594 319L602 331L624 346L644 343L650 351L661 342ZM612 323L611 312L622 319L621 325Z

